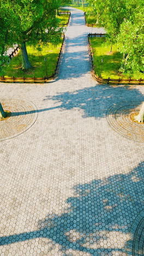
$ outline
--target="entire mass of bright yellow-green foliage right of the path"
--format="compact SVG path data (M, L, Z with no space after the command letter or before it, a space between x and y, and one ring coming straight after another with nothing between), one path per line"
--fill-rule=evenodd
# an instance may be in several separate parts
M143 2L142 0L88 0L97 22L105 27L107 43L118 44L124 53L122 71L130 74L143 70Z

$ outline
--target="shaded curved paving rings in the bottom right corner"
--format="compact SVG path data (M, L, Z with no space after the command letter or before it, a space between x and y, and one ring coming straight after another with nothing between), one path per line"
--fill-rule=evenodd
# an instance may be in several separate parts
M139 213L131 226L127 255L144 255L144 210Z

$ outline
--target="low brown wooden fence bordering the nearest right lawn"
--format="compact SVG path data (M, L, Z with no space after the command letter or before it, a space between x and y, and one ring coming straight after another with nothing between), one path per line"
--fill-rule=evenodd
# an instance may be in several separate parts
M92 48L91 48L91 43L89 42L89 38L91 37L101 37L104 36L105 34L88 34L88 50L89 50L89 56L91 58L91 62L92 62L92 75L93 78L95 80L97 80L97 82L99 83L103 83L103 84L144 84L144 79L140 78L140 79L131 79L131 77L129 79L122 79L121 77L119 77L119 79L111 79L109 78L101 78L98 75L95 74L95 70L94 70L94 64L93 64L93 53L92 53Z

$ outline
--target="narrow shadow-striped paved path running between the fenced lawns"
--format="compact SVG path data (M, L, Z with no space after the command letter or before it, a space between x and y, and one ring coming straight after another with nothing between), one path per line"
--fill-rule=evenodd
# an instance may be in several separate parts
M67 28L65 49L60 65L59 79L80 78L91 80L91 65L88 56L88 40L87 34L91 32L91 28L85 24L83 11L71 8L71 19ZM103 28L93 28L95 32L105 32Z

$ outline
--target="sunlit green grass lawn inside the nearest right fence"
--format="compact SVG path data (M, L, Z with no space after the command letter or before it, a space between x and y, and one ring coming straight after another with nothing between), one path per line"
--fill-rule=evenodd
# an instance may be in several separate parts
M94 70L95 74L102 78L118 79L119 77L123 79L128 79L129 77L133 79L144 79L144 75L140 72L135 72L133 74L122 74L119 75L118 69L121 66L121 61L123 54L117 51L117 46L112 46L112 52L110 53L111 46L105 44L105 38L95 37L89 38L92 46L93 60L94 60ZM103 64L101 63L103 59Z

